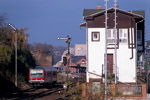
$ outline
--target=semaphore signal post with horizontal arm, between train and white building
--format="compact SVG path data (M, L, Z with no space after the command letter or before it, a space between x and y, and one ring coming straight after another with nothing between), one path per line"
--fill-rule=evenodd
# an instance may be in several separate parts
M69 70L69 55L70 55L70 40L71 38L69 37L69 35L67 35L67 37L65 38L61 38L58 37L58 40L65 40L67 43L67 82L68 82L68 70ZM68 86L67 86L67 90L68 90Z

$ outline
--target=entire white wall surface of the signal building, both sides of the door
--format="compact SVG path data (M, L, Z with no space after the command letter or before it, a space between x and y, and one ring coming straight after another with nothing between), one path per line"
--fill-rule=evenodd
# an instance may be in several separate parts
M100 32L100 41L92 41L92 32ZM105 28L88 28L88 72L102 75L102 65L104 65L105 54ZM108 49L108 54L114 55L114 49ZM117 66L120 82L136 82L136 49L128 48L128 44L119 44L117 49ZM114 58L113 58L114 60ZM87 73L87 82L89 78L101 78L99 76Z

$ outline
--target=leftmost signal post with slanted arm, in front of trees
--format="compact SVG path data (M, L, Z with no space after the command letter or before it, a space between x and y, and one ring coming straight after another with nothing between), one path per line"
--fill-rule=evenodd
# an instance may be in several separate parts
M18 34L18 30L11 24L8 24L11 28L14 29L14 31L16 32L15 34L15 86L17 87L17 34Z

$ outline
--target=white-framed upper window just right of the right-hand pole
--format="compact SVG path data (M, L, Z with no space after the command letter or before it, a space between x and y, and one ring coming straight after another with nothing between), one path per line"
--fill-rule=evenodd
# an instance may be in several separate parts
M119 43L127 43L128 30L119 29Z

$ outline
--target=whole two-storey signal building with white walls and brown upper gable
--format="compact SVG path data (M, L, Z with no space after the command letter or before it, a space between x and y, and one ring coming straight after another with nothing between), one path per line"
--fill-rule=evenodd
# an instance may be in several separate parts
M114 8L108 9L107 73L114 75ZM105 65L105 10L85 9L87 82L102 79ZM145 12L117 9L117 77L119 82L136 82L137 61L144 51Z

